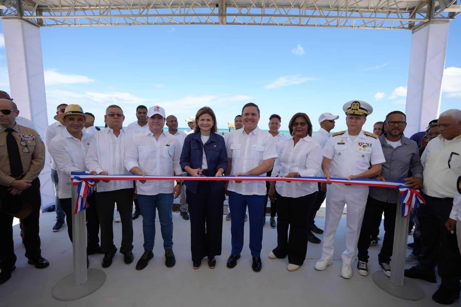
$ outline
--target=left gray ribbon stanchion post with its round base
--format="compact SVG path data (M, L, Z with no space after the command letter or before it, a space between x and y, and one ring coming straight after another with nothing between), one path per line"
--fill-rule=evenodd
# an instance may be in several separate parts
M72 186L72 206L77 201L77 186ZM74 272L61 279L53 288L58 301L75 301L99 289L106 280L106 273L87 269L87 230L85 211L72 215L72 249Z

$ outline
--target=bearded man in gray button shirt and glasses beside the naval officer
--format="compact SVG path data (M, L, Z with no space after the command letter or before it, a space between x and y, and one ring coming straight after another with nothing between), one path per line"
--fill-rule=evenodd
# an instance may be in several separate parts
M416 142L403 136L407 126L406 116L403 112L393 111L386 116L384 122L384 135L378 139L383 148L386 162L382 164L381 174L376 179L405 180L409 188L419 189L423 183L423 166ZM413 177L408 177L411 170ZM360 275L368 275L368 248L370 235L380 220L384 211L384 240L381 252L378 254L379 266L384 274L390 276L390 257L394 244L394 228L396 224L397 189L370 187L368 201L366 202L365 215L358 242L357 271Z

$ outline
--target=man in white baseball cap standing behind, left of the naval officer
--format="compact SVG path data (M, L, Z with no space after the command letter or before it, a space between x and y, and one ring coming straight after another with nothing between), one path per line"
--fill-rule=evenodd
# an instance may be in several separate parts
M319 124L320 124L320 129L312 136L312 139L319 143L321 148L325 147L326 142L328 142L328 139L331 136L330 131L335 128L335 120L339 118L338 115L333 115L329 112L325 112L320 114L319 116ZM320 161L321 163L321 161ZM322 169L320 168L320 171L317 173L317 177L325 177ZM311 243L314 244L319 244L322 242L318 237L316 237L313 233L317 234L322 234L323 230L320 229L315 225L315 215L317 214L317 211L319 211L320 206L322 206L323 201L325 201L325 195L326 195L326 183L318 183L319 185L319 191L317 192L317 195L315 197L315 201L311 207L311 210L309 212L309 215L307 216L307 221L309 224L307 224L307 227L309 227L309 235L307 236L307 240Z

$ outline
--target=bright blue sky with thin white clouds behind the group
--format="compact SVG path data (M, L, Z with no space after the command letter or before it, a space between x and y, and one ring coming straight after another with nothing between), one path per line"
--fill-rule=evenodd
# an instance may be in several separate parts
M0 27L0 33L3 29ZM441 112L461 106L461 18L450 24ZM59 103L78 103L103 125L106 106L122 106L125 124L139 104L163 106L180 127L211 106L226 128L246 102L260 106L260 128L272 113L287 130L306 112L318 130L322 112L340 115L348 100L369 102L365 130L405 111L411 31L277 26L118 26L42 28L49 123ZM0 88L9 91L3 36ZM449 92L448 92L449 91ZM411 120L408 118L408 120Z

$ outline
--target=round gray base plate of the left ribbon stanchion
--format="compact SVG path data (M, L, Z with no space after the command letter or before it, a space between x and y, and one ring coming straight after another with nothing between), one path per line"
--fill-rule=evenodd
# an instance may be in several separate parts
M72 273L61 279L53 288L53 297L58 301L75 301L99 289L106 281L106 273L98 269L88 269L86 283L77 286Z

